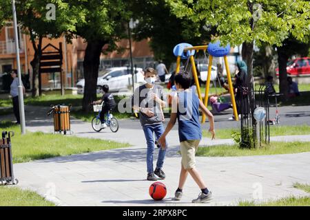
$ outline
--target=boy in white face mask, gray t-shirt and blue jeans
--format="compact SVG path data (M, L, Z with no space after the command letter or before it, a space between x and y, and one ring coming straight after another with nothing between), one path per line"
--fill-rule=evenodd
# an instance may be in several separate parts
M157 177L165 179L163 163L165 159L165 149L160 148L156 169L153 168L153 155L155 141L163 134L163 107L166 102L163 100L163 87L156 85L157 72L153 68L145 69L144 78L147 83L136 88L133 97L133 108L139 112L139 118L145 140L147 143L147 180L156 181ZM154 140L154 134L156 140ZM156 176L157 177L156 177Z

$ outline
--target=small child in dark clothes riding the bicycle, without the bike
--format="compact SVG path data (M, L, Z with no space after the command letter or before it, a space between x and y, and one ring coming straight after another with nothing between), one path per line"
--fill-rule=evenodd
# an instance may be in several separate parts
M102 91L103 91L102 98L98 101L93 102L93 104L101 104L103 102L102 109L100 112L100 120L101 120L101 128L105 129L107 127L107 124L105 124L105 114L108 111L113 110L116 107L116 103L113 95L109 93L108 85L103 85Z

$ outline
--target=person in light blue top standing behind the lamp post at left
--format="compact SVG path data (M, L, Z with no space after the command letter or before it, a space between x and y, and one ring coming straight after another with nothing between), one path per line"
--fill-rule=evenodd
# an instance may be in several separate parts
M19 116L19 78L17 78L16 69L12 69L11 77L13 78L13 81L10 86L10 95L12 96L13 101L13 111L17 120L16 124L21 124ZM21 85L23 86L23 83L21 83ZM25 94L25 87L23 87L23 94Z

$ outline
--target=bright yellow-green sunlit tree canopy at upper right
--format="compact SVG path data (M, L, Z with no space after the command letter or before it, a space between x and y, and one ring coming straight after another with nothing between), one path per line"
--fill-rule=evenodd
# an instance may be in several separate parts
M280 47L289 36L306 41L310 4L300 0L166 0L177 17L189 17L216 27L223 45L242 44L242 58L252 75L254 42ZM281 74L281 72L280 72ZM280 78L283 80L283 78ZM286 80L286 79L285 79ZM280 83L280 91L285 88Z

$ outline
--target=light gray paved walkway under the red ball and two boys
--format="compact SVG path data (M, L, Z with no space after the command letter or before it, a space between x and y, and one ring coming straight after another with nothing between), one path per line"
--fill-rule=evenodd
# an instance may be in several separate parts
M28 131L52 132L52 118L48 109L27 107ZM11 117L11 116L8 116ZM138 121L131 121L138 127ZM310 183L310 153L265 155L251 157L197 157L197 168L211 189L210 203L193 204L200 190L191 177L187 179L181 201L172 201L178 186L180 155L176 129L167 137L169 148L164 170L167 196L153 201L148 195L151 182L146 181L145 140L141 129L109 130L95 133L90 123L72 119L72 131L79 137L129 142L130 148L56 157L14 164L19 187L30 188L61 206L216 206L234 205L238 201L264 201L290 195L309 195L293 188L295 182ZM310 135L272 137L271 140L310 141ZM203 138L201 145L232 144L232 140Z

